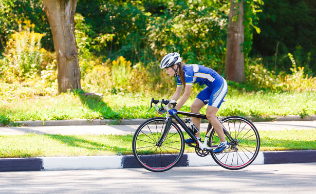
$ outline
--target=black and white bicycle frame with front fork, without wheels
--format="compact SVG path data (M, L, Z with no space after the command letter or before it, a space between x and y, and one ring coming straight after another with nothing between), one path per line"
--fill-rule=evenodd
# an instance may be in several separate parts
M189 127L182 121L182 119L178 116L178 114L180 115L186 115L186 116L191 116L191 117L196 117L196 118L200 118L200 119L207 119L206 115L202 115L202 114L197 114L197 113L190 113L190 112L183 112L183 111L178 111L177 114L173 115L173 116L169 116L166 117L166 119L168 119L168 122L164 128L163 134L160 138L160 140L158 141L157 145L161 145L163 143L163 141L165 140L166 135L169 133L170 130L170 126L171 126L171 122L172 119L174 118L183 128L183 130L185 132L188 133L188 135L196 142L196 145L199 146L199 148L201 150L208 150L211 151L212 149L216 148L217 145L213 145L211 147L209 147L208 144L208 140L210 137L210 133L211 133L211 129L213 128L211 123L209 123L208 128L207 128L207 132L206 132L206 136L205 136L205 140L202 143L201 141L198 140L197 137L195 137L195 135L193 134L193 132L189 129ZM229 139L230 144L233 144L234 139L232 138L232 136L227 132L227 130L222 127L222 129L224 130L224 134L226 135L226 137Z

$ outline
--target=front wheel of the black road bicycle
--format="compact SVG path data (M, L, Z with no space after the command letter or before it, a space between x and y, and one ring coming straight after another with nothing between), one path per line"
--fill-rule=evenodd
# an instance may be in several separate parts
M165 130L166 119L148 119L136 130L133 138L133 154L137 162L147 170L162 172L180 161L184 152L184 137L179 126L172 121L169 133L158 144Z

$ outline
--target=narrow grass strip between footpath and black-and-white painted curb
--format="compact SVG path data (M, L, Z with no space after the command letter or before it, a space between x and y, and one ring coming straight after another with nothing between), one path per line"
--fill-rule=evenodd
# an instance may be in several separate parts
M316 127L313 130L260 131L259 134L261 151L316 149ZM0 158L129 155L132 139L132 135L2 135ZM194 149L187 146L185 152L191 153Z

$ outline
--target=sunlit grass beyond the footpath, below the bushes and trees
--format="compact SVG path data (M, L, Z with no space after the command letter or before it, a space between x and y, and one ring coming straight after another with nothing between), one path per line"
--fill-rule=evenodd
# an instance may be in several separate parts
M181 108L190 111L198 90ZM106 94L103 97L80 93L56 95L51 88L0 82L0 123L23 120L128 119L157 116L151 98L168 99L170 94ZM316 114L316 92L238 92L231 89L217 116L252 116L252 120L271 120L273 116ZM206 112L203 107L201 113Z

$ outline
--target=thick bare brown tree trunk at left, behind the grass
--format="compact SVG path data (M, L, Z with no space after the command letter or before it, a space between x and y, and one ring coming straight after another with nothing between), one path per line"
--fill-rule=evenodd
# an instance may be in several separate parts
M81 89L75 38L77 0L43 0L57 55L58 93Z

